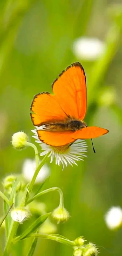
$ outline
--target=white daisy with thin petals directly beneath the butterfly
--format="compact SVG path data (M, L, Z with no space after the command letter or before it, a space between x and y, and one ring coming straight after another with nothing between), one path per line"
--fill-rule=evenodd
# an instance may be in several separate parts
M36 140L36 142L38 142L41 146L41 149L43 150L42 153L40 153L40 156L44 156L47 153L50 152L48 157L51 157L50 163L52 163L52 161L55 158L55 164L57 165L61 165L63 166L64 169L64 165L67 166L68 164L70 164L71 166L73 164L77 165L76 161L80 161L83 160L83 157L87 157L86 156L86 152L87 152L87 145L86 145L86 141L85 140L81 140L81 139L77 139L73 144L67 144L64 146L49 146L45 143L43 143L42 141L39 140L38 138L38 133L35 130L32 130L32 132L34 133L34 137Z

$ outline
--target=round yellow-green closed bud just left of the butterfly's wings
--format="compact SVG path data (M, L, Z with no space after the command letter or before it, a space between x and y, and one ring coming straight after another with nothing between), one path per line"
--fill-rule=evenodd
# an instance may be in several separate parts
M16 149L23 149L27 145L28 136L24 132L16 132L12 136L12 145Z

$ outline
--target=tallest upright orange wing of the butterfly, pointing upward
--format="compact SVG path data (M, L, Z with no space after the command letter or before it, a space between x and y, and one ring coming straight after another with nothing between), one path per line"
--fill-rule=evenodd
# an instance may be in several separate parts
M86 77L79 62L62 71L53 85L53 93L64 112L74 118L84 120L86 114Z

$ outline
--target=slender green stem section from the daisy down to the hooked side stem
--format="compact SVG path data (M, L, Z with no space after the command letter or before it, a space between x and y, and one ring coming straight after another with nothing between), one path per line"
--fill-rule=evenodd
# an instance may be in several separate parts
M25 200L25 205L26 205L26 202L27 202L27 200L28 200L28 197L29 197L29 195L30 195L30 193L31 193L31 191L32 191L32 188L33 188L33 186L34 186L35 179L36 179L36 177L37 177L37 175L38 175L38 173L39 173L41 167L45 164L45 162L46 162L46 160L47 160L49 154L50 154L50 152L47 153L47 155L41 160L41 163L38 165L38 167L37 167L36 170L35 170L35 173L34 173L34 175L33 175L33 178L32 178L32 180L31 180L31 182L30 182L30 184L29 184L29 186L28 186L28 194L27 194L27 197L26 197L26 200Z

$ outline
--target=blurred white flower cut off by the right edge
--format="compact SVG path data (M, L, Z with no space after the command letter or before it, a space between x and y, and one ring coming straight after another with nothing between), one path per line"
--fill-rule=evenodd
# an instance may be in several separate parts
M104 216L109 229L117 229L122 225L122 209L120 206L111 207Z

